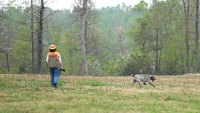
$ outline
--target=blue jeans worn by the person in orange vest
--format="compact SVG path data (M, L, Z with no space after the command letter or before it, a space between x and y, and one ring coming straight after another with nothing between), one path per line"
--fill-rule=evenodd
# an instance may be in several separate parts
M60 67L49 68L51 77L51 86L54 87L54 83L58 84L60 76Z

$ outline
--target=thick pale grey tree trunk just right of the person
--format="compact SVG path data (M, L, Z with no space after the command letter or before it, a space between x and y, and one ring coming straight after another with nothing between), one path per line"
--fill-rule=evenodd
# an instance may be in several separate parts
M82 52L82 67L83 75L88 75L88 65L87 65L87 53L86 53L86 19L87 19L87 3L88 0L83 0L83 7L81 10L81 21L80 21L80 38L81 38L81 52Z

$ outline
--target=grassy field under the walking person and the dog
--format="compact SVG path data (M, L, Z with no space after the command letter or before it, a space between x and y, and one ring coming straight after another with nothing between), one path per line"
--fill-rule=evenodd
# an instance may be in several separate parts
M0 75L0 113L200 113L200 75L132 77Z

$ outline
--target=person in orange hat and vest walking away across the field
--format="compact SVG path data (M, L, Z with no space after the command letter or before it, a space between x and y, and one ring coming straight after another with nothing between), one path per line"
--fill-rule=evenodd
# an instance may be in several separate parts
M49 46L46 62L50 70L51 86L57 88L60 69L62 67L62 59L60 53L56 51L56 46L54 44Z

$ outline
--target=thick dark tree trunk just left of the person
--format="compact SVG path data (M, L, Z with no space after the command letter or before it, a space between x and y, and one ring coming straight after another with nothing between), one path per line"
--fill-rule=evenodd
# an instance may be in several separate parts
M38 73L42 74L42 54L43 54L43 15L44 15L44 2L41 0L40 7L39 28L37 37L37 52L38 52Z

